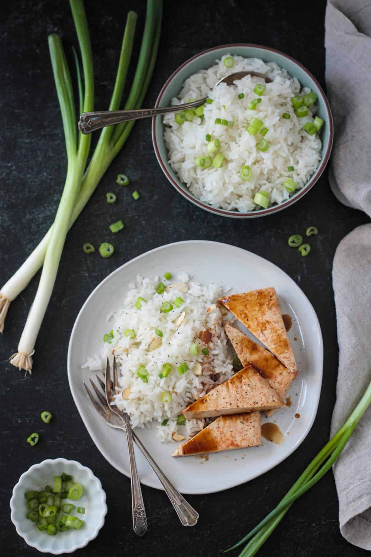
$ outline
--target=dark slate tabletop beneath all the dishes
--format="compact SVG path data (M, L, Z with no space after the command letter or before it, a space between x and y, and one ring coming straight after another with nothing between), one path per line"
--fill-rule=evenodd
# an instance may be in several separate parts
M129 8L137 9L138 31L145 3L112 0L87 2L96 76L96 109L106 109ZM303 63L324 86L325 2L284 0L245 3L165 2L164 24L156 75L145 105L153 106L167 77L190 56L229 42L263 43ZM76 44L67 2L20 1L2 5L2 133L0 246L1 282L12 275L53 221L66 172L66 156L58 102L48 56L47 35L60 33L68 47ZM137 34L135 53L138 52ZM155 159L150 120L137 123L127 145L102 179L78 222L68 234L57 282L42 324L34 355L34 373L23 374L8 364L37 288L38 276L11 305L1 338L0 409L1 468L0 544L11 555L36 555L16 534L7 501L22 472L44 458L76 459L92 468L107 493L106 524L78 555L216 555L243 536L281 499L329 437L335 400L338 346L332 291L332 260L339 241L367 222L364 214L342 206L330 191L327 175L298 203L264 219L237 221L195 208L166 181ZM132 188L115 184L126 172ZM135 188L141 199L134 202ZM105 193L118 193L108 206ZM107 223L118 218L126 228L115 241L111 259L87 257L84 241L108 239ZM310 256L302 258L287 246L292 233L315 224L320 235ZM130 482L114 470L94 446L73 403L67 383L66 358L78 310L92 289L116 267L147 250L180 240L217 240L267 258L299 284L319 317L324 338L324 380L318 414L308 437L285 462L264 476L219 494L189 496L200 512L192 530L180 526L163 492L143 487L150 528L144 539L131 529ZM39 411L55 418L44 426ZM39 431L31 448L26 437ZM366 555L340 535L338 500L332 473L302 497L261 550L261 555Z

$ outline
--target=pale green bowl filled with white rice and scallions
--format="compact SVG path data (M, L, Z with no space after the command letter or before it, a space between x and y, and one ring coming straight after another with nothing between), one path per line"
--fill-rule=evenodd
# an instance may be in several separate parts
M271 81L248 75L213 89L240 71ZM330 156L333 120L304 66L269 47L210 48L169 77L156 107L204 97L201 109L152 122L157 160L182 196L220 216L254 218L281 211L313 187Z

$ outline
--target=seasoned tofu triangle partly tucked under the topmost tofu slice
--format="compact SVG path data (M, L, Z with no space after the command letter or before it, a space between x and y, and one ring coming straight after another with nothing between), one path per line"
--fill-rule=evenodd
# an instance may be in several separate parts
M275 392L284 400L291 383L298 373L290 372L283 364L270 353L269 350L254 343L248 336L241 333L238 329L227 323L224 330L231 341L233 348L238 355L242 365L252 364L260 372L264 379L268 381ZM271 416L274 411L268 411Z

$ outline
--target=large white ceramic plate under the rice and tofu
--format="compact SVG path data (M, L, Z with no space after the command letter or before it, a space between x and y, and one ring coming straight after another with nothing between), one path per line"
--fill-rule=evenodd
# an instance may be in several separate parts
M111 273L88 297L77 316L68 346L68 381L73 399L102 455L126 476L130 476L125 434L108 427L98 416L83 387L89 377L81 365L88 355L98 354L107 330L106 315L117 309L126 295L127 284L136 275L173 275L187 272L207 284L218 282L231 292L246 292L274 286L283 314L293 318L289 338L299 374L288 395L291 407L276 412L275 421L285 436L279 446L270 441L263 447L226 451L209 458L171 458L176 443L161 444L154 429L136 432L169 480L184 494L222 491L260 476L278 465L300 445L316 415L322 382L323 341L318 318L299 286L269 261L238 247L218 242L172 243L144 253ZM296 340L295 340L296 339ZM300 414L300 418L295 418ZM263 418L263 422L268 421ZM156 422L157 424L157 422ZM145 485L162 489L152 468L136 449L138 473Z

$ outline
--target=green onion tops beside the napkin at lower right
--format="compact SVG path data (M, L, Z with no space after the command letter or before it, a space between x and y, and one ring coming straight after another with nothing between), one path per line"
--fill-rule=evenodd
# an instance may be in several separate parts
M311 461L310 465L305 468L304 472L294 483L293 487L291 487L283 500L281 500L279 505L277 505L276 508L258 524L258 526L255 526L249 534L247 534L237 544L224 551L224 553L238 548L248 540L248 544L241 551L239 557L253 557L253 555L258 553L261 546L279 525L280 521L283 519L294 501L314 486L314 484L318 482L337 461L347 444L348 439L352 435L353 429L359 422L360 418L362 418L370 403L371 383L368 385L362 399L360 399L352 414L350 414L349 418L344 423L344 426L339 429L339 431L330 439L323 449L321 449L313 461Z

